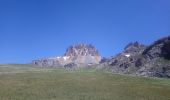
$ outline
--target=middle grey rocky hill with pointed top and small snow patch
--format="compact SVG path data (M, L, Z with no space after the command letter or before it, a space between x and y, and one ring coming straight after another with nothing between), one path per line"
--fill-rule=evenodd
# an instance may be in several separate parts
M101 66L103 66L104 69L109 69L116 73L134 73L134 70L137 69L136 67L141 65L138 58L145 48L145 45L139 44L138 42L129 43L122 53L102 63ZM109 66L109 68L107 66Z

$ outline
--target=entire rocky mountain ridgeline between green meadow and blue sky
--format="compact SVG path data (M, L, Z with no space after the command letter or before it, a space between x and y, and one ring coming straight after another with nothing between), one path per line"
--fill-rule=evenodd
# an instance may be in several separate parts
M63 56L32 63L41 67L96 68L119 74L170 78L170 36L149 46L129 43L121 53L111 58L102 58L91 44L77 44L70 46Z

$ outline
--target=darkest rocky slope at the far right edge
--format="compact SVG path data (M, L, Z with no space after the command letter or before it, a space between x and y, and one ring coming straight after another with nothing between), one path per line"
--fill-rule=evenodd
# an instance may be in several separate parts
M170 78L170 36L161 38L142 53L144 62L137 75Z

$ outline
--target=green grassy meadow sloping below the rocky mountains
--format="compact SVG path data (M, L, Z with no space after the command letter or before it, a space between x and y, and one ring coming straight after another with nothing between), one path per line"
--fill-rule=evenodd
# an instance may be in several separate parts
M170 80L0 65L0 100L170 100Z

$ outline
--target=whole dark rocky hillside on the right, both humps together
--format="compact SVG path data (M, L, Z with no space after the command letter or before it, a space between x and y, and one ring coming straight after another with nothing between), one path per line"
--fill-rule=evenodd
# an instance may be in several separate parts
M137 76L170 78L170 36L149 46L129 43L124 51L105 62L99 69Z

